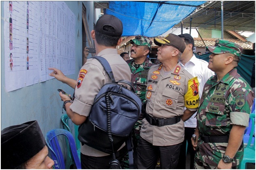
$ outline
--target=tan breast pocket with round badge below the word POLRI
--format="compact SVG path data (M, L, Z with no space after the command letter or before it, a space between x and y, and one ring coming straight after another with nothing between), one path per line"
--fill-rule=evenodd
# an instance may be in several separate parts
M162 96L162 99L160 99L161 101L159 101L162 106L176 109L179 97L178 91L166 88L164 89Z

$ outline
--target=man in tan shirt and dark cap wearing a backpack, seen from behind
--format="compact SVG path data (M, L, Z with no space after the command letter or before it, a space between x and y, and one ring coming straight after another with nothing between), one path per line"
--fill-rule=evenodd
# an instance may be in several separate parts
M115 80L130 81L130 68L115 49L122 42L122 31L122 22L117 17L103 15L98 19L95 29L91 31L91 36L95 42L96 55L109 62ZM94 58L88 59L79 71L74 101L72 102L68 96L60 92L66 113L73 123L80 125L85 122L90 114L94 98L101 87L110 82L111 79L100 62ZM125 144L115 153L117 160L126 154L126 147L124 146ZM83 169L108 169L111 160L112 155L88 145L81 145L81 166Z

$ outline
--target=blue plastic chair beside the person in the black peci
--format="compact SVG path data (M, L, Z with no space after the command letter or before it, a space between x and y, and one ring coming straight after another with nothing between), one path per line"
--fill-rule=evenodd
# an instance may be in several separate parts
M64 135L68 139L68 146L70 147L70 151L72 153L75 165L77 166L77 169L81 169L81 162L77 155L77 149L75 146L75 140L73 138L73 135L65 129L53 129L47 132L45 140L49 148L51 158L54 161L55 169L66 168L62 150L60 148L60 143L57 138L57 136L59 135ZM70 169L70 167L67 167L67 169Z

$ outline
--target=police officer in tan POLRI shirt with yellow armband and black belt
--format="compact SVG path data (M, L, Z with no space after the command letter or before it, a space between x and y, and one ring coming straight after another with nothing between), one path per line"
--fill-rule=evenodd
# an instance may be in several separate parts
M199 104L198 80L183 69L178 60L186 46L179 36L154 39L158 60L151 66L147 81L147 106L138 146L138 169L154 169L160 157L161 169L177 166L184 140L184 121ZM186 110L183 111L184 106Z

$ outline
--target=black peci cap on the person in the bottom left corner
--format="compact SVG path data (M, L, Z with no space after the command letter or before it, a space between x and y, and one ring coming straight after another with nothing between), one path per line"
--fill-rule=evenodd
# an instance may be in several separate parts
M1 131L1 169L15 169L45 147L36 120L9 126Z

